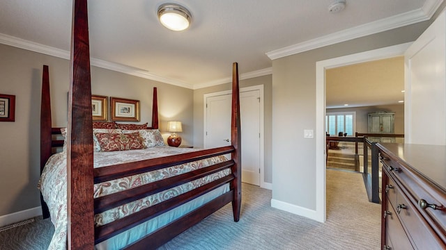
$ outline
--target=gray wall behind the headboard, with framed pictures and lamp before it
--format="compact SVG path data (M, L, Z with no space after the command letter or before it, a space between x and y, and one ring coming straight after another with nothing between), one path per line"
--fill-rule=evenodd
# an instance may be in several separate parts
M13 94L15 122L0 122L0 216L40 206L40 88L49 65L53 126L66 126L69 61L0 44L0 93ZM141 122L151 123L153 87L158 88L160 130L183 122L183 144L193 142L193 90L91 68L93 94L141 101ZM163 132L162 132L163 133ZM164 138L169 133L163 133Z

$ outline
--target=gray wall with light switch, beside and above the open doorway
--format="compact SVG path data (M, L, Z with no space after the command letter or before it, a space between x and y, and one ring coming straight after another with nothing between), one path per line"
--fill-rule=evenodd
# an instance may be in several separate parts
M428 25L422 22L272 61L273 200L316 209L316 142L303 138L304 129L316 128L316 62L411 42Z

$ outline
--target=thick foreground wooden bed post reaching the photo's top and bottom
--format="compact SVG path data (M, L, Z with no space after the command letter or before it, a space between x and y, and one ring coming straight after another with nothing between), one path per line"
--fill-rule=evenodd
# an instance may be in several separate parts
M70 73L67 126L68 249L93 249L93 124L87 0L73 1Z

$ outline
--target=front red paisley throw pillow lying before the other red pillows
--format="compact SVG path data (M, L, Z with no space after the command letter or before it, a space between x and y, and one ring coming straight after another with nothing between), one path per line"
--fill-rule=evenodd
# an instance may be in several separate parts
M144 149L139 133L95 133L95 136L102 152Z

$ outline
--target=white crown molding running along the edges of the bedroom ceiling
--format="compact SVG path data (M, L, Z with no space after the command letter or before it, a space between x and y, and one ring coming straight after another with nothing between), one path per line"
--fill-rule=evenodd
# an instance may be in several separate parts
M306 42L294 44L289 47L284 47L282 49L270 51L266 53L266 55L271 60L275 60L277 58L291 56L293 54L309 51L312 49L318 49L331 44L336 44L338 42L344 42L346 40L360 38L364 35L371 35L382 31L388 31L392 28L399 28L401 26L415 24L417 22L423 22L426 21L427 19L430 19L434 15L434 13L439 8L441 3L443 3L443 0L426 0L422 8L418 10L413 10L410 12L403 13L401 15L396 15L394 17L381 19L376 22L371 22L369 24L348 28L344 31L339 31L337 33L332 33L330 35L325 35L321 38L308 40ZM45 55L70 60L70 51L66 51L63 49L56 49L54 47L49 47L44 44L23 40L22 38L16 38L11 35L0 33L0 44L6 44L11 47L17 47L20 49L26 49L29 51L43 53ZM132 76L146 78L153 81L159 81L162 83L176 85L182 88L189 88L192 90L207 88L214 85L220 85L223 83L230 83L232 81L231 77L228 77L216 81L210 81L207 83L197 83L197 84L183 83L181 81L176 81L174 79L157 76L144 69L138 69L127 65L121 65L118 63L111 63L97 58L91 58L91 65L95 67L101 67L103 69L113 70L115 72L121 72L124 74L130 74ZM254 78L258 76L266 76L268 74L272 74L271 67L266 69L260 69L254 72L240 74L240 80L244 80L247 78Z

